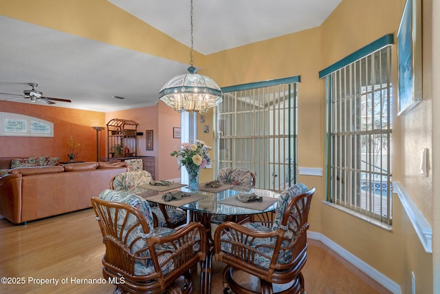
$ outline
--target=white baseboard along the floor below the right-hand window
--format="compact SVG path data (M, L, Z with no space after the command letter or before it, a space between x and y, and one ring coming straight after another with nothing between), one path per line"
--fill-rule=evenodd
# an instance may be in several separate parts
M373 280L387 288L389 291L391 291L391 293L401 294L401 288L399 284L391 280L389 277L386 277L386 275L380 273L380 271L377 271L377 269L374 269L373 266L370 266L363 260L360 260L360 258L357 258L355 255L342 248L342 246L336 244L325 235L322 235L321 233L316 233L314 231L307 231L307 238L322 242L327 247L329 247L329 249L335 251L336 253L341 255L342 258L353 264L353 266L356 266L358 269L360 269L360 271L363 271Z

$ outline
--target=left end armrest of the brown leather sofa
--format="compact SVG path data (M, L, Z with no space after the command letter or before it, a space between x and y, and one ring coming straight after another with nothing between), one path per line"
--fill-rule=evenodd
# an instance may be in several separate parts
M0 178L0 214L21 223L21 174L8 174Z

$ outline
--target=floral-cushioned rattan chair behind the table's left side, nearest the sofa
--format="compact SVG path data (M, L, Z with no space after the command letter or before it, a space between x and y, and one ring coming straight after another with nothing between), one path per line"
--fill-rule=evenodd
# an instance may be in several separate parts
M110 189L117 191L129 191L130 193L141 193L144 189L140 189L140 185L148 185L153 178L148 171L126 171L122 174L114 176L110 180ZM186 211L176 209L166 205L157 206L148 202L151 210L157 217L159 227L176 228L186 223Z

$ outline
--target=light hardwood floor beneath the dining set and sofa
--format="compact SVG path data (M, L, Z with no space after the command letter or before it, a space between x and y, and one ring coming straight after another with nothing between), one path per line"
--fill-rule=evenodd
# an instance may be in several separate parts
M112 293L113 285L96 283L102 281L101 239L91 209L26 225L0 219L0 276L15 283L2 280L0 293ZM307 252L307 293L389 293L322 243L309 240ZM213 272L212 294L221 294L223 264L214 262Z

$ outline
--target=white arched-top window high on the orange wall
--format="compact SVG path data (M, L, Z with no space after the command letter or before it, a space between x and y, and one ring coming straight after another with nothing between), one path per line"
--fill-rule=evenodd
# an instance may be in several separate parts
M0 112L0 136L53 137L54 124L32 116Z

